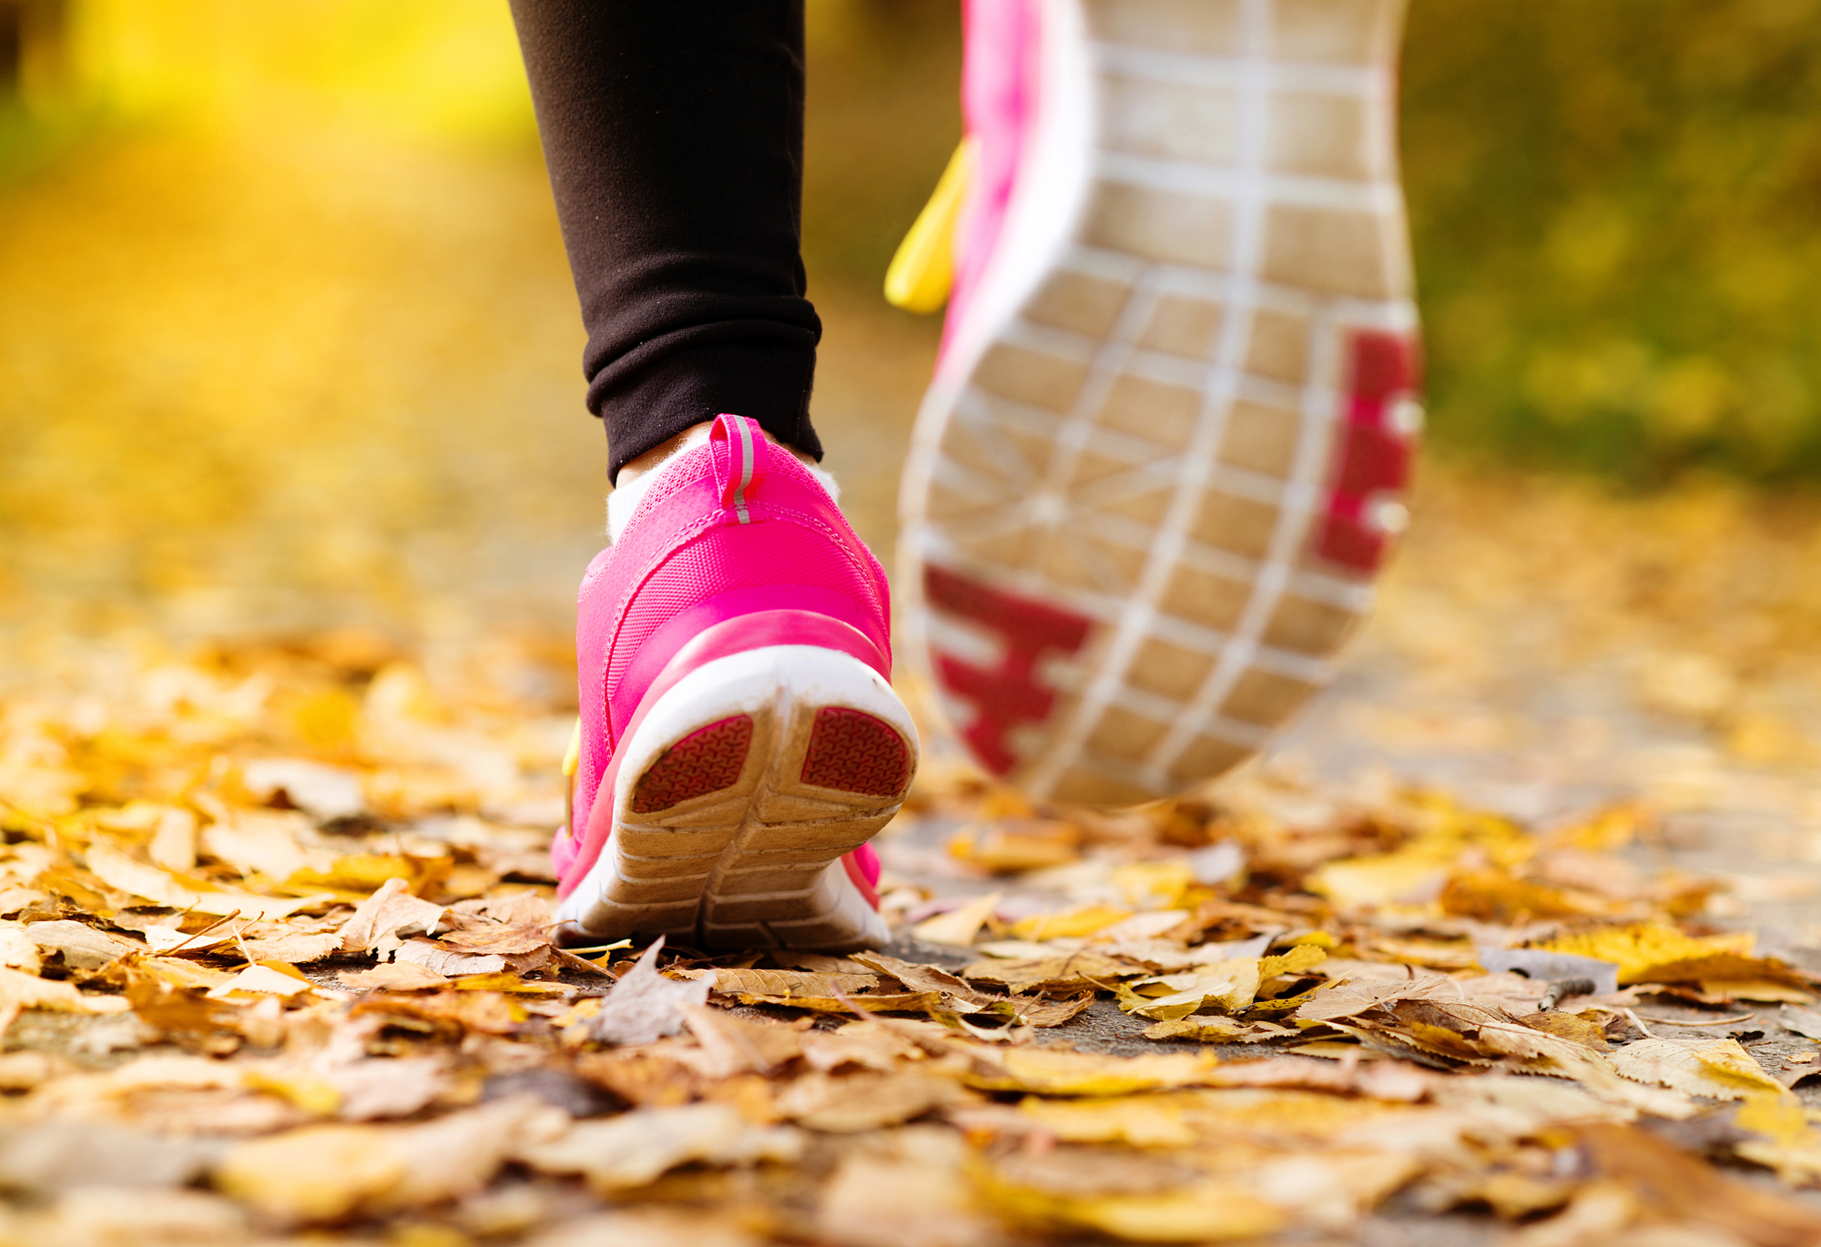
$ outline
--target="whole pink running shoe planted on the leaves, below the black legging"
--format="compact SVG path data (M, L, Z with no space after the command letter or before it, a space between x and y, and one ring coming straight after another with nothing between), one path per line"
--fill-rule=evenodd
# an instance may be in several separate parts
M559 938L885 941L867 839L918 737L890 686L883 568L756 421L717 417L643 490L581 583Z

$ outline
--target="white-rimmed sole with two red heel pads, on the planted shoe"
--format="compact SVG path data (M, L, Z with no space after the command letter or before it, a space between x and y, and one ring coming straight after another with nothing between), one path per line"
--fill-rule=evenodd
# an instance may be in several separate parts
M841 857L898 812L918 737L872 668L772 644L707 663L621 748L606 848L557 910L565 943L849 950L890 938Z

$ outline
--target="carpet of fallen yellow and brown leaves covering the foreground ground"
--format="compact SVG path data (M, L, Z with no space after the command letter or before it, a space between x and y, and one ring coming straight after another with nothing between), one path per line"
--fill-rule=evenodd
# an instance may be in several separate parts
M566 726L346 635L9 701L0 1242L1821 1242L1821 983L1644 810L938 757L890 947L559 948Z

